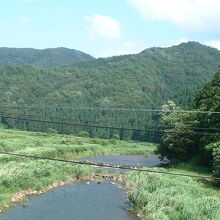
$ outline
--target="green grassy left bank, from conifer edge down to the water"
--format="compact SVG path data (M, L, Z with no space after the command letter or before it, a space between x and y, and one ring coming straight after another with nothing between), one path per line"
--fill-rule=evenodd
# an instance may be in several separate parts
M77 159L101 155L152 154L154 145L0 129L0 152ZM89 166L0 155L0 209L17 201L19 192L32 194L73 177L90 178ZM22 194L22 193L21 193ZM34 193L33 193L34 194Z

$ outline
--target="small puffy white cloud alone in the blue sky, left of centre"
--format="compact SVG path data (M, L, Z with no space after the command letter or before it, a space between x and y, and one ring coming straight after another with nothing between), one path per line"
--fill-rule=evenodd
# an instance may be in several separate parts
M87 30L91 38L102 37L110 40L119 40L122 36L120 24L111 17L93 15L86 17L90 22Z

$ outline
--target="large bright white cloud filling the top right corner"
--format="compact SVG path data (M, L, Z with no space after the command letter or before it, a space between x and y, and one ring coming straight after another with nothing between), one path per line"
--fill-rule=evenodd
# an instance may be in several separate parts
M146 20L160 20L189 30L220 27L219 0L127 0Z

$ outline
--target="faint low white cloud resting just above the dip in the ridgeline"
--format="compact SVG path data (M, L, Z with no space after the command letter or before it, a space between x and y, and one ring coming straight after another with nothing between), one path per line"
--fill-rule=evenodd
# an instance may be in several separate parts
M135 41L127 41L122 43L117 48L109 48L104 52L101 52L98 57L110 57L125 54L137 54L146 49L146 45L137 43Z

